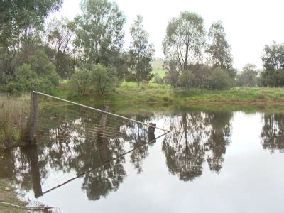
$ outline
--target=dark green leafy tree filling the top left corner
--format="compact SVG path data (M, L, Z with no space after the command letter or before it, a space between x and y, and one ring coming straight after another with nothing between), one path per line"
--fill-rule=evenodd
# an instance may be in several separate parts
M44 19L60 9L62 0L12 0L0 1L0 80L16 77L16 66L23 64L31 53L31 47L38 41L35 29ZM16 58L19 52L23 54ZM16 62L18 60L18 62Z

